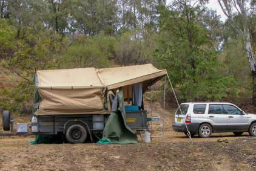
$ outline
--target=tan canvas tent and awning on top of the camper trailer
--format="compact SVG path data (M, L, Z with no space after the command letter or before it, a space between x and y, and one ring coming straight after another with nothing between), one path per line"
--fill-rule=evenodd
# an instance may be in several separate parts
M143 91L166 75L166 70L152 64L116 68L75 68L37 71L33 113L109 114L106 89L123 87L124 99L131 97L125 89L142 83Z

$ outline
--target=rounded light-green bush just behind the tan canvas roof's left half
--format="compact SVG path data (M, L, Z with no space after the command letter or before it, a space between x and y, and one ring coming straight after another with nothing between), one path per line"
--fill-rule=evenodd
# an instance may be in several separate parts
M77 35L63 56L62 66L64 68L109 67L111 66L109 59L113 58L114 44L114 37L103 34L93 37Z

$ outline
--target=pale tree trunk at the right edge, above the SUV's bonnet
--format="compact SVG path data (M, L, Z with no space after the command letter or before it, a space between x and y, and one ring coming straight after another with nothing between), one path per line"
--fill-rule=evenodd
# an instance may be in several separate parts
M254 52L252 51L252 45L250 42L249 30L246 31L246 38L244 40L245 40L246 53L249 60L249 67L252 72L252 104L256 106L256 63L255 63Z

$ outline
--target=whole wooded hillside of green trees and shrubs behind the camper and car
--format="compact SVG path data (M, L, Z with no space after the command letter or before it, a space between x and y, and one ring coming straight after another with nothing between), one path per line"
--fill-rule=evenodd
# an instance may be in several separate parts
M166 7L163 0L2 2L0 68L10 72L12 83L0 82L1 109L21 111L22 106L32 105L31 78L37 70L151 62L167 69L182 100L239 100L252 94L246 53L240 50L243 42L231 39L238 35L229 29L234 25L227 20L223 27L220 16L202 4L172 1ZM235 15L234 19L241 21ZM248 23L255 48L254 13ZM241 23L237 26L241 28Z

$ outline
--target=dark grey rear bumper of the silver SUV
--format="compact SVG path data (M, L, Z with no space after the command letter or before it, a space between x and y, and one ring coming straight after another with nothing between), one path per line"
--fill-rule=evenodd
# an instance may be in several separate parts
M187 128L186 128L187 125ZM187 123L187 124L177 124L177 123L172 123L172 129L176 132L187 132L187 129L189 129L189 132L192 132L194 134L198 133L198 127L199 123Z

